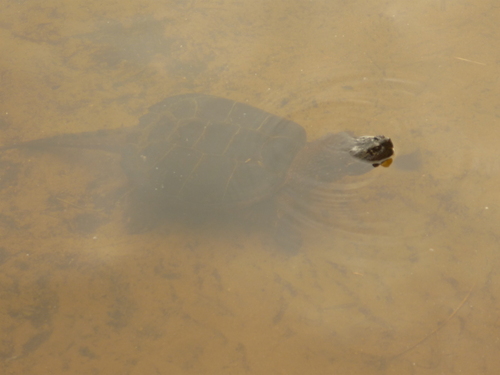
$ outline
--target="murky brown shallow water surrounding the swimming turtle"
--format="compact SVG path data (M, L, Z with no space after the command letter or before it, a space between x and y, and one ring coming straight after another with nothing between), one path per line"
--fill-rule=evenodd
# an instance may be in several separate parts
M128 234L113 155L1 155L0 372L497 374L499 17L493 0L4 0L2 145L203 92L311 139L391 136L398 158L339 186L331 226L289 256L241 226Z

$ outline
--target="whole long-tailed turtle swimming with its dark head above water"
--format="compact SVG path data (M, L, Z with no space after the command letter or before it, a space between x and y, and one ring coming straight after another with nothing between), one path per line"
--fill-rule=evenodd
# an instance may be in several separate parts
M130 227L149 227L146 222L164 214L211 218L260 205L272 212L276 243L295 249L301 238L291 229L293 218L275 202L292 204L315 186L390 164L394 154L391 139L383 135L328 133L308 142L294 121L193 93L154 104L133 127L61 134L0 151L46 147L120 154L133 186Z

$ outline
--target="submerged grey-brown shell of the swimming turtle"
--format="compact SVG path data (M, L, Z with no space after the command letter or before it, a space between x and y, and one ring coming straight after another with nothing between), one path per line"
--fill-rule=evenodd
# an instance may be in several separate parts
M153 105L136 129L123 167L158 204L237 207L270 197L306 144L293 121L201 94Z

